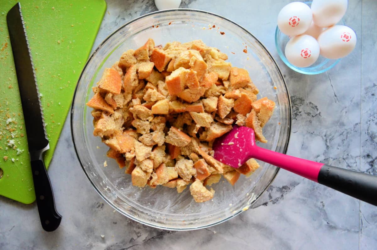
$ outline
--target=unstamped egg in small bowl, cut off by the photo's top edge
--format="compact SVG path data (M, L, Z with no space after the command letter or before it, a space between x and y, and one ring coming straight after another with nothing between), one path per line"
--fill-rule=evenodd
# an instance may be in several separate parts
M314 23L322 28L335 25L346 13L347 5L348 0L313 0L311 11Z

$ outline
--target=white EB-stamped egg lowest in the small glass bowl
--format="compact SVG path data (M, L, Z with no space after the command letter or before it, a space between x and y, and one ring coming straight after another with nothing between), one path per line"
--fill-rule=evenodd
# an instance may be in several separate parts
M319 57L318 42L310 35L292 37L285 46L285 57L296 67L308 67Z

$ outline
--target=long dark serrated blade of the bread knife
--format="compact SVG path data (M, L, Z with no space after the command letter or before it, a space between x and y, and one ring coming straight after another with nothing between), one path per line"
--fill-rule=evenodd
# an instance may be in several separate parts
M49 141L45 130L37 78L35 77L34 64L20 3L17 3L8 12L6 21L20 89L29 153L32 156L37 151L48 149Z

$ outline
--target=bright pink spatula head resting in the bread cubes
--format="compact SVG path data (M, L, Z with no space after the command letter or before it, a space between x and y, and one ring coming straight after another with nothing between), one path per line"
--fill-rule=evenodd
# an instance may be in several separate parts
M231 131L215 140L213 157L233 168L239 168L251 158L253 146L255 146L254 130L234 126Z

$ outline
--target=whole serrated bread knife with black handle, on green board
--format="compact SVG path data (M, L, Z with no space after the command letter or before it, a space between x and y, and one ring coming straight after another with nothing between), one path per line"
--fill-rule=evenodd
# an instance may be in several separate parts
M43 162L43 153L49 149L49 141L20 3L8 12L6 22L20 89L39 217L44 230L54 231L60 224L61 216L56 211L51 182Z

